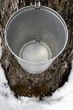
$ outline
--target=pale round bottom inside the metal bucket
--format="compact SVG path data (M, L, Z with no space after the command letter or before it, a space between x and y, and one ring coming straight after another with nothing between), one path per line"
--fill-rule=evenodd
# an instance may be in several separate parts
M52 52L44 42L33 40L22 46L19 57L31 62L43 62L52 58Z

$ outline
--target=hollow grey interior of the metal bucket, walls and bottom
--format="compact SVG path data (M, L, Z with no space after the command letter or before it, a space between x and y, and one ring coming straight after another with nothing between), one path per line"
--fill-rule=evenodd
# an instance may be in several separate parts
M43 8L27 8L16 13L8 23L6 37L10 49L17 56L31 61L55 57L66 41L62 21Z

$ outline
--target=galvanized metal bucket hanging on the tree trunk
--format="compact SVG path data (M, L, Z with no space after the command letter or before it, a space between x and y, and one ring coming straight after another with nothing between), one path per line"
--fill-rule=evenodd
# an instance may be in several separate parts
M53 9L36 5L15 12L5 28L5 41L29 73L41 73L62 53L68 40L63 18Z

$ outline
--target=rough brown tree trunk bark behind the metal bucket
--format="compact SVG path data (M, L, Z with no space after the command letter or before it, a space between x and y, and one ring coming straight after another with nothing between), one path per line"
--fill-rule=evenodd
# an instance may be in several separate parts
M7 48L4 40L4 28L9 17L18 8L29 5L34 0L0 0L0 37L2 39L1 64L4 68L10 88L16 95L46 96L51 95L68 79L73 59L73 0L41 0L62 15L69 30L68 44L54 63L41 74L29 74L21 68Z

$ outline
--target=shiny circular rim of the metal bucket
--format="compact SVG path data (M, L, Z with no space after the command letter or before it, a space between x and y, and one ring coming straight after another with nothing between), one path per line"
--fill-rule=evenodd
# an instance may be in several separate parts
M59 19L59 21L62 23L63 25L63 28L65 30L65 36L66 36L66 41L65 41L65 44L63 46L63 48L61 49L61 51L56 55L54 56L53 58L51 59L48 59L47 61L40 61L40 62L32 62L32 61L29 61L29 60L23 60L22 58L20 58L19 56L17 56L13 51L12 49L10 48L8 42L7 42L7 29L8 29L8 26L9 24L11 23L11 21L16 17L16 15L19 15L21 14L22 12L25 12L25 11L28 11L30 9L35 9L35 5L32 5L32 6L26 6L26 7L23 7L19 10L17 10L14 14L12 14L12 16L9 18L9 20L7 21L7 24L5 26L5 31L4 31L4 37L5 37L5 43L7 44L7 47L9 48L9 50L11 51L11 53L17 58L18 61L22 61L22 62L26 62L26 63L32 63L32 64L40 64L40 63L48 63L48 62L52 62L54 61L62 52L63 50L65 49L66 47L66 44L67 44L67 41L68 41L68 28L67 28L67 25L64 21L64 19L61 17L61 15L56 12L55 10L49 8L49 7L46 7L46 6L41 6L40 9L42 10L45 10L45 11L48 11L50 12L51 14L53 14L55 17L57 17Z

